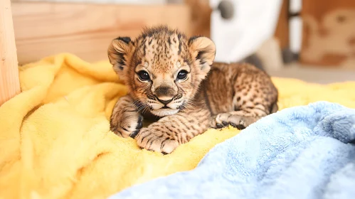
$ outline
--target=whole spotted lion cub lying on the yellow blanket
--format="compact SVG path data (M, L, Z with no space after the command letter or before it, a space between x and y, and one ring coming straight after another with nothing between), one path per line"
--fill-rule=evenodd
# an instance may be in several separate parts
M210 39L166 26L147 28L134 41L114 39L108 57L129 95L115 104L111 130L169 154L210 127L244 129L277 111L277 89L265 72L213 63L215 53ZM142 128L147 118L157 122Z

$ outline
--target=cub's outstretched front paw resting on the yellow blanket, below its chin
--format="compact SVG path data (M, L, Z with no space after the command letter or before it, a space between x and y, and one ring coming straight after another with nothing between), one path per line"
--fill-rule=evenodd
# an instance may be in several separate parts
M138 146L149 151L161 152L162 154L170 154L179 146L179 142L171 139L171 136L165 132L149 127L141 129L135 139Z

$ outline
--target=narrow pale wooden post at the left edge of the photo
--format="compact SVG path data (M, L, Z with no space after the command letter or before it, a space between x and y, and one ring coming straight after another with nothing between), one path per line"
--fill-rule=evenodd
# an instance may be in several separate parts
M0 0L0 106L21 92L11 0Z

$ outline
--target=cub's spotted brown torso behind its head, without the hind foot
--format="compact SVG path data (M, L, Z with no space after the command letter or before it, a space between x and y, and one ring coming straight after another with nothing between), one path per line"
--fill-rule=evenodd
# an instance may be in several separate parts
M267 106L277 101L270 76L248 63L213 63L201 84L201 95L212 114L238 110L251 100L261 100Z

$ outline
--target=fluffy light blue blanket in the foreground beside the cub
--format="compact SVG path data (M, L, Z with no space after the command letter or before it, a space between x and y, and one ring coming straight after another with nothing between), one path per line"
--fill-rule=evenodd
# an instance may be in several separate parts
M355 109L316 102L283 109L216 145L192 171L118 198L355 198Z

